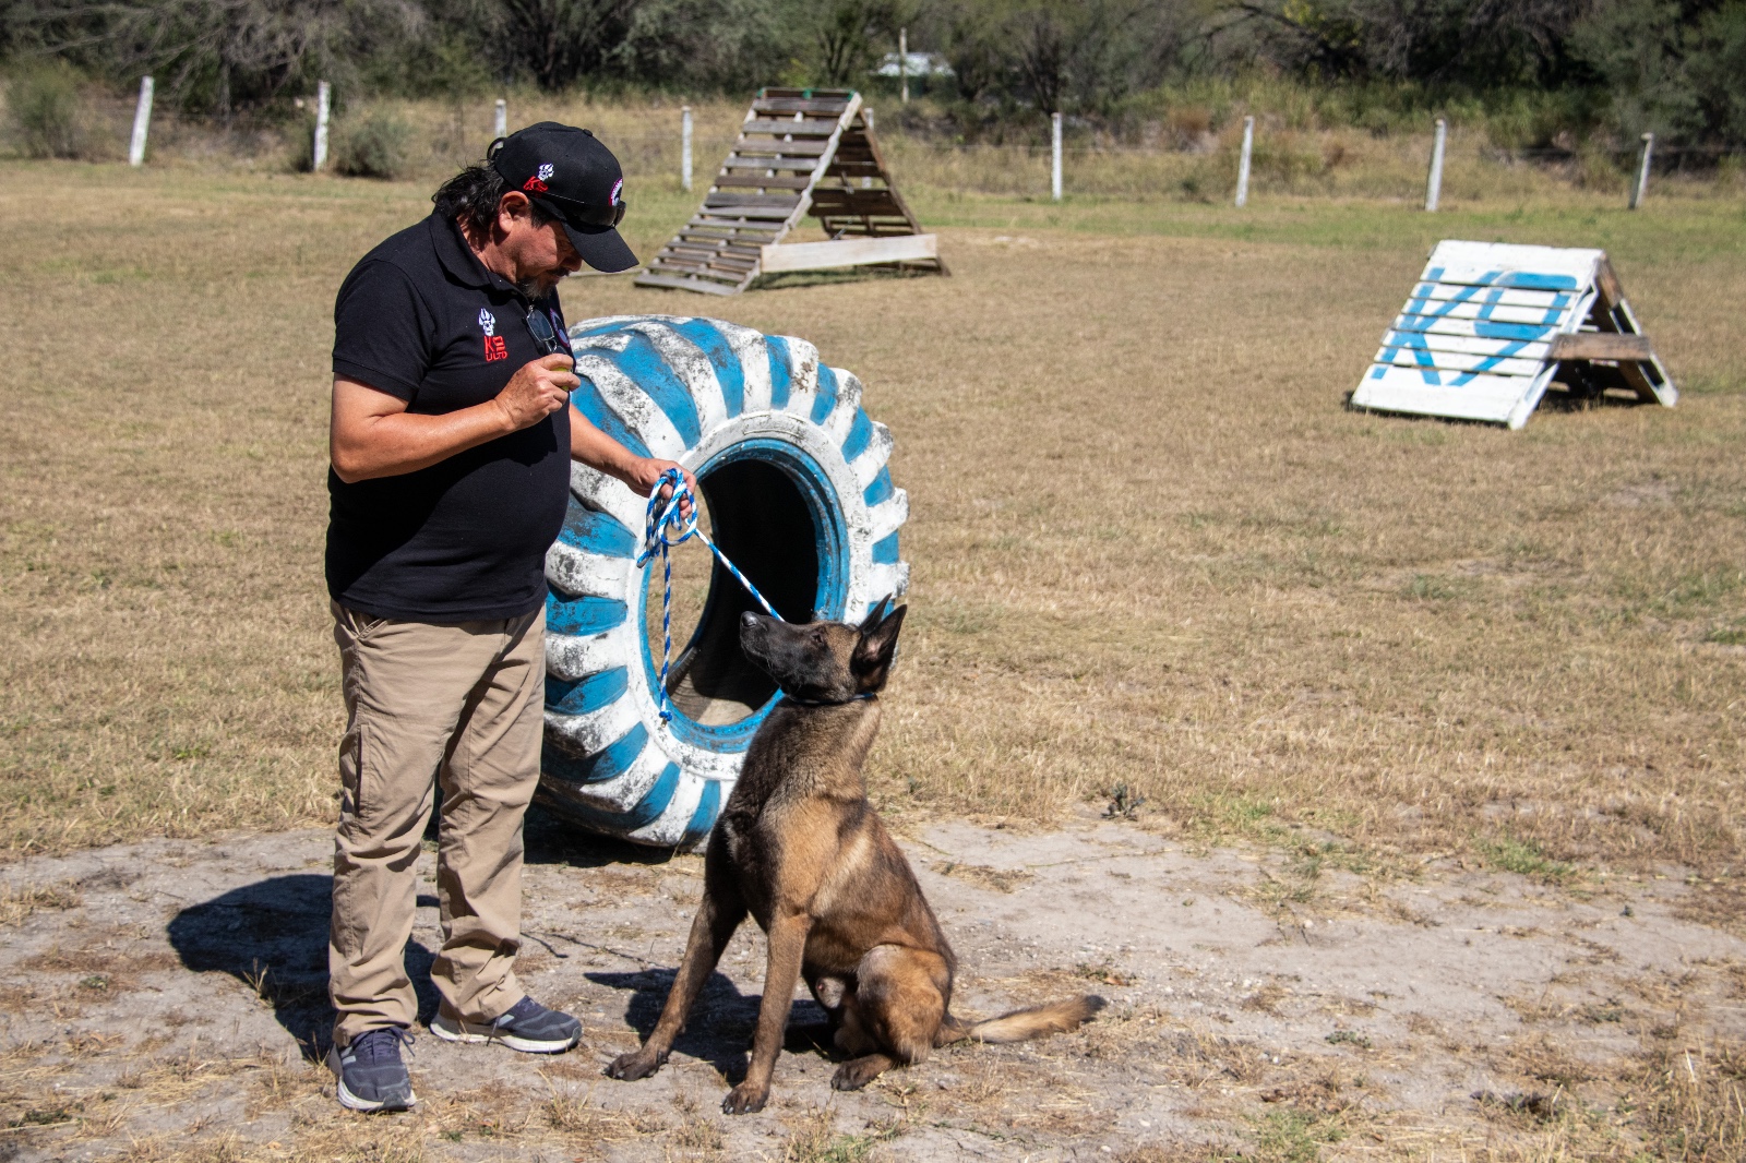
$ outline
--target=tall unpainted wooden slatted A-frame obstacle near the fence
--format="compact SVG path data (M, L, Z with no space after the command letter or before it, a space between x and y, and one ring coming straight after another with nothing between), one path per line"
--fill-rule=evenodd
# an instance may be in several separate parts
M782 243L807 217L829 241ZM760 89L704 204L637 286L737 295L760 274L901 265L946 274L852 89Z

